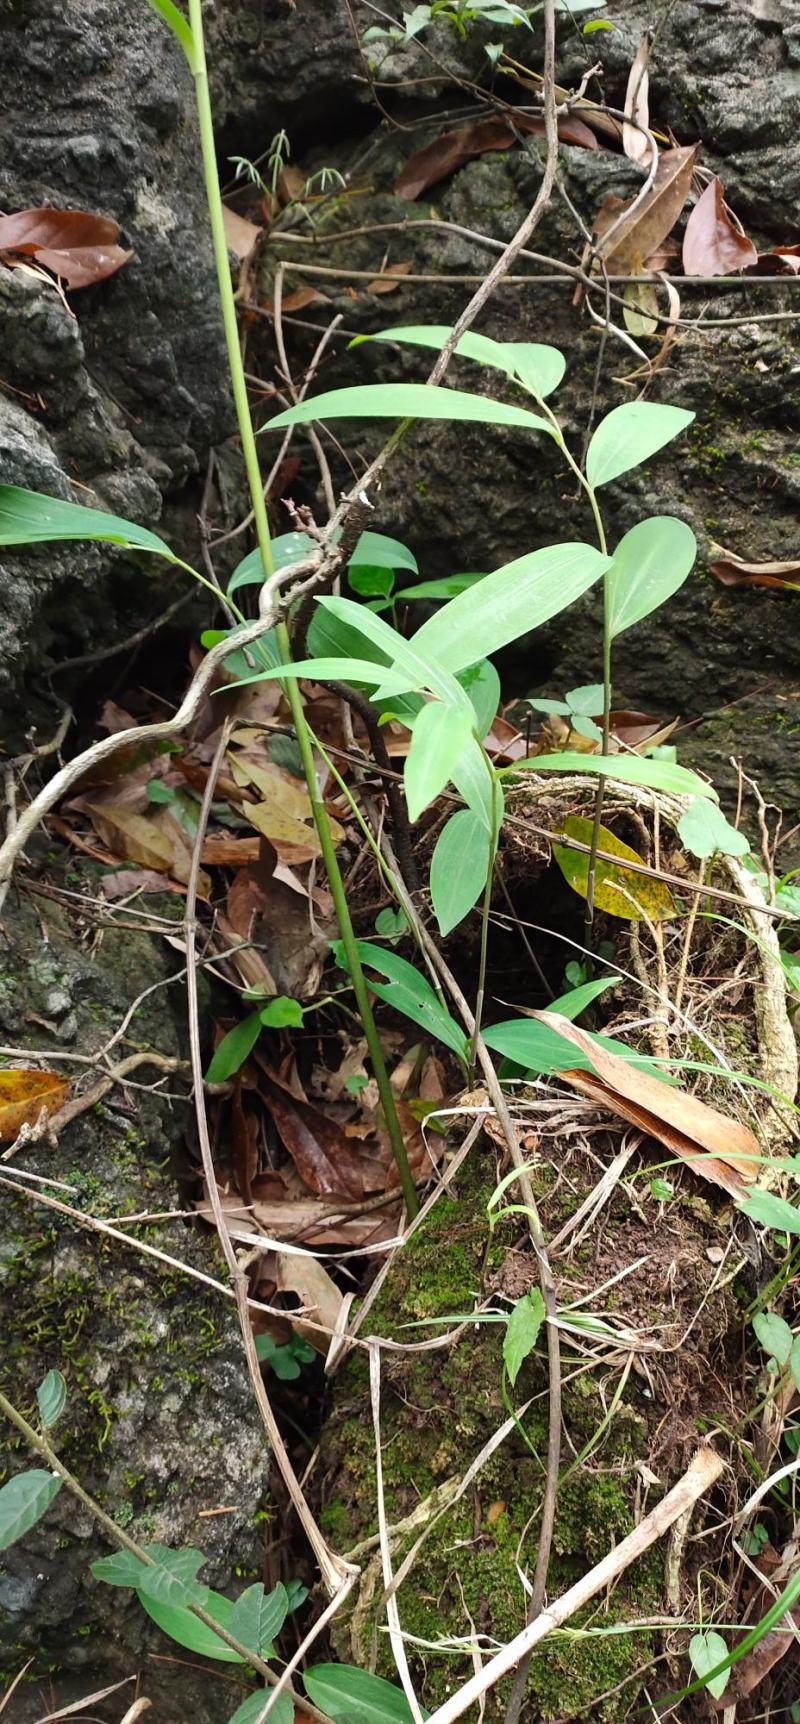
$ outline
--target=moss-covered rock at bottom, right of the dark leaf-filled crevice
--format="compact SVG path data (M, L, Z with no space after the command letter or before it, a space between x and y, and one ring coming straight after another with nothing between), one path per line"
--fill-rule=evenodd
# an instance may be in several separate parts
M598 1140L590 1141L591 1153L586 1145L574 1148L574 1140L562 1140L560 1160L552 1160L548 1150L548 1160L541 1159L533 1174L550 1238L597 1184ZM510 1309L509 1302L536 1284L524 1221L509 1217L490 1234L486 1203L495 1184L491 1148L472 1152L471 1165L457 1176L457 1191L440 1198L395 1257L362 1334L419 1343L436 1327L409 1324L455 1319L472 1309L476 1295L491 1291L498 1295L495 1307ZM514 1202L514 1190L507 1202ZM678 1176L669 1219L660 1217L641 1176L633 1200L631 1190L617 1191L588 1238L555 1264L559 1307L595 1290L579 1309L603 1317L619 1336L636 1333L638 1350L631 1355L609 1341L597 1352L588 1338L562 1334L566 1434L548 1598L566 1591L631 1531L681 1474L714 1409L722 1412L736 1309L729 1291L714 1288L709 1248L724 1224L724 1212L712 1214L690 1176ZM631 1265L638 1267L600 1291ZM691 1317L691 1348L672 1352ZM474 1324L431 1352L381 1352L386 1517L390 1526L410 1517L409 1527L393 1536L395 1574L429 1524L428 1508L445 1507L453 1484L509 1417L502 1336L498 1324ZM472 1674L471 1636L481 1636L486 1658L524 1624L517 1564L533 1574L547 1450L541 1336L514 1390L514 1405L524 1402L529 1405L519 1429L434 1521L398 1591L402 1627L412 1636L407 1650L417 1695L431 1710ZM347 1552L374 1540L374 1431L364 1352L350 1355L334 1381L319 1481L322 1526L334 1546ZM376 1545L359 1552L359 1560L366 1571L362 1591L350 1619L334 1626L336 1655L395 1677ZM669 1612L664 1562L666 1546L655 1545L609 1596L595 1600L567 1633L552 1636L534 1655L526 1724L579 1714L616 1724L629 1715L640 1691L633 1672L659 1650L647 1624ZM462 1645L441 1650L441 1641L452 1640ZM486 1717L500 1719L507 1698L509 1686L500 1684L488 1696Z

